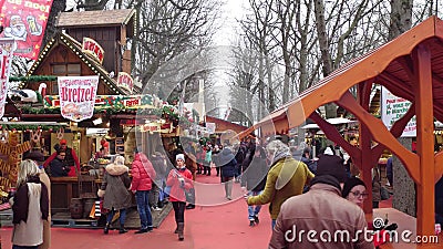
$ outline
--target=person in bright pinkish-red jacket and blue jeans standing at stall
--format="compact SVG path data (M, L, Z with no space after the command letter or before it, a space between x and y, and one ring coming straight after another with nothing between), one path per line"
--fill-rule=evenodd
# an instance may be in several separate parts
M137 201L137 210L141 229L135 234L144 234L153 230L152 215L150 208L150 191L152 189L153 179L155 179L155 170L146 155L135 151L134 160L131 168L132 183L131 190L135 194Z

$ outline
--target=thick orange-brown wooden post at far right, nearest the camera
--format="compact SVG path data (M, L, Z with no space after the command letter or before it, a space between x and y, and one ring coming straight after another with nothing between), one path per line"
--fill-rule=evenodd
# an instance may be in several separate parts
M416 113L416 152L420 157L420 184L418 184L418 235L434 235L434 123L432 96L431 52L419 45L412 53Z

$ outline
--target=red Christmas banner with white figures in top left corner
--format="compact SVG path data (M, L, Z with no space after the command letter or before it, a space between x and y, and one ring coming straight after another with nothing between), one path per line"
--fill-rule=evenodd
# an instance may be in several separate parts
M1 0L1 37L17 41L16 55L37 60L53 0Z

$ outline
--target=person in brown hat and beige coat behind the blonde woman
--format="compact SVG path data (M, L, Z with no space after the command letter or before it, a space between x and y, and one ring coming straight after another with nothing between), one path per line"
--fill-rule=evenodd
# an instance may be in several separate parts
M51 180L49 179L48 174L44 172L43 163L44 155L38 148L32 148L28 154L24 155L23 159L32 159L40 167L40 180L48 188L49 196L49 216L48 220L43 220L43 243L39 246L39 249L48 249L51 246Z

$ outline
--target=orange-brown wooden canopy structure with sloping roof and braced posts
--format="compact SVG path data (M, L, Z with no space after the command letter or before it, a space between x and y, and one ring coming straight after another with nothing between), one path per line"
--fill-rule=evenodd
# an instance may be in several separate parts
M411 102L406 114L390 131L369 113L373 84ZM357 100L349 91L353 86L358 89ZM359 120L359 147L351 146L316 112L327 103L336 103ZM416 154L396 139L414 115ZM434 117L443 121L443 21L431 17L395 40L348 62L239 136L257 128L261 128L261 134L282 134L311 118L329 139L351 155L369 187L371 168L382 151L390 149L418 186L418 235L434 235L434 185L443 174L443 153L434 153ZM372 141L378 144L372 146ZM371 201L365 201L364 211L372 212Z

